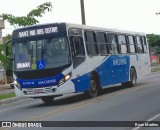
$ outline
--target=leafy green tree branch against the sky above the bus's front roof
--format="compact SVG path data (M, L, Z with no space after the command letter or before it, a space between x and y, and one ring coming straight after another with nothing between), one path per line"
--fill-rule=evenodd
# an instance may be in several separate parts
M26 16L13 16L12 14L1 14L0 18L6 20L10 23L11 26L17 27L25 27L33 24L39 23L36 17L42 17L46 11L52 11L51 2L46 2L37 6L36 9L31 10Z

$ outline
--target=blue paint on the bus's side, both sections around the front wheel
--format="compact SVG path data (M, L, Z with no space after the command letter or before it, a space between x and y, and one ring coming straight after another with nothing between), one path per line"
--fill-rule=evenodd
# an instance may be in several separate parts
M106 59L93 71L96 71L99 75L100 85L103 88L108 85L129 81L129 67L129 55L111 55L106 57ZM90 73L72 80L76 92L83 92L89 89Z

